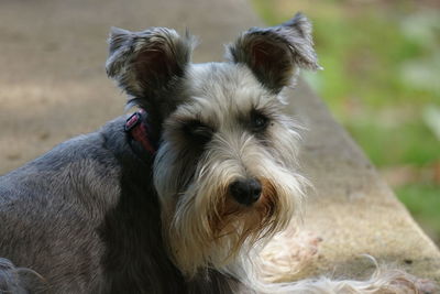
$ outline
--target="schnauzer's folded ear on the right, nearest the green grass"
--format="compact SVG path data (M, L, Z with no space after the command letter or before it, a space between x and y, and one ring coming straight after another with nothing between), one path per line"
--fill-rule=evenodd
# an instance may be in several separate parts
M242 33L227 47L227 58L248 65L275 94L295 81L299 68L320 68L311 24L301 13L278 26L252 28Z

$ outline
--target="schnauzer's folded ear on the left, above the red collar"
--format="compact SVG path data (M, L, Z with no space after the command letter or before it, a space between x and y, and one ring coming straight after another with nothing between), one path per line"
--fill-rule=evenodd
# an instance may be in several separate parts
M169 108L173 95L190 63L195 39L165 28L130 32L112 28L106 69L131 96L129 102L155 111ZM164 98L166 97L166 98ZM164 115L164 113L163 113Z

